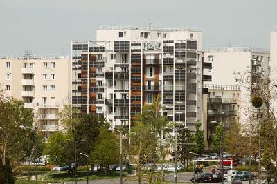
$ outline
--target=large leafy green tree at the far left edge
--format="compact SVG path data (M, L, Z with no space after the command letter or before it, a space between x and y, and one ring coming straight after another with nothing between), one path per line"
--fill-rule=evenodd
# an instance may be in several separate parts
M15 98L0 101L0 159L1 163L12 167L12 176L16 177L17 165L28 158L35 145L35 131L21 130L19 125L33 127L33 113L24 108L24 101Z

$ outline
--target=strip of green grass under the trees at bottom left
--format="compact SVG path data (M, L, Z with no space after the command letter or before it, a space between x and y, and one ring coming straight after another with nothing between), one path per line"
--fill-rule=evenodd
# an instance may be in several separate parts
M30 172L30 177L35 176L35 172ZM127 172L123 172L123 176L127 176ZM119 178L119 172L109 172L108 175L105 175L103 172L94 172L92 174L89 172L89 180L95 179L109 179L109 178ZM87 171L78 171L76 176L77 181L87 181ZM68 172L57 172L57 171L48 171L48 172L38 172L38 181L39 183L58 183L66 181L74 181L72 174ZM15 184L27 184L28 183L28 172L24 172L21 177L17 178ZM32 181L30 183L35 183ZM29 183L28 183L29 184Z

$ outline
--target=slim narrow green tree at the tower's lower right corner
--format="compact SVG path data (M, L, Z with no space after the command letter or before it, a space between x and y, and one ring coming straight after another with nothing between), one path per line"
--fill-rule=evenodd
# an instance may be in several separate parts
M194 152L196 154L203 154L205 150L204 145L204 131L200 130L201 123L195 123L195 134L193 136L194 143L196 143L194 147Z

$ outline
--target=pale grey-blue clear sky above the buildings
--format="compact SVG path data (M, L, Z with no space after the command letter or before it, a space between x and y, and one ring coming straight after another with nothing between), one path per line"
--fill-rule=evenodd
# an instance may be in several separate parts
M100 25L197 27L204 48L269 48L277 0L0 0L0 54L70 54Z

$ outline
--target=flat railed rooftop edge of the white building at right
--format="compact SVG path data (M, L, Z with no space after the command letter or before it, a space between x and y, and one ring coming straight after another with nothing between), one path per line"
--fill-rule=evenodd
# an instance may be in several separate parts
M263 54L270 54L269 49L265 48L251 48L247 47L218 47L218 48L207 48L207 52L258 52Z

